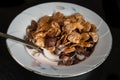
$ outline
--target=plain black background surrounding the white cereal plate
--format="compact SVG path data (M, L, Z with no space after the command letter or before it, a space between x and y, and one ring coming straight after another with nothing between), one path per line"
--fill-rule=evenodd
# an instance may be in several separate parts
M6 33L11 21L23 10L36 4L62 1L89 8L102 17L112 33L113 46L107 60L95 70L72 78L50 78L37 75L21 67L0 38L0 80L120 80L120 0L3 0L0 2L0 31Z

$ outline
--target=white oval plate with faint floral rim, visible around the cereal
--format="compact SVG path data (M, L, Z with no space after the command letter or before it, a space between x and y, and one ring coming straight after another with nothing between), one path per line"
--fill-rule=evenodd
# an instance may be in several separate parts
M84 18L95 24L98 29L99 41L92 55L85 61L73 66L54 66L39 64L39 61L31 57L25 46L15 41L7 40L7 46L12 57L24 68L44 76L72 77L87 73L102 64L110 53L112 36L108 25L93 11L79 5L63 2L51 2L33 6L21 12L10 24L7 33L19 38L24 38L26 27L31 20L37 21L44 15L52 15L60 11L64 15L81 13Z

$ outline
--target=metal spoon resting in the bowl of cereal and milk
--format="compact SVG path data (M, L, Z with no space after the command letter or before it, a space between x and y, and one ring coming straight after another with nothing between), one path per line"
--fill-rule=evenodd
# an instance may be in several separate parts
M36 45L33 44L32 42L25 41L25 40L20 39L20 38L18 38L18 37L15 37L15 36L12 36L12 35L9 35L9 34L5 34L5 33L2 33L2 32L0 32L0 36L3 37L3 38L6 38L6 39L12 39L12 40L14 40L14 41L21 42L21 43L23 43L23 44L25 44L25 45L27 45L27 46L32 47L32 48L36 49L37 51L39 51L46 59L48 59L48 60L50 60L50 61L52 61L52 62L59 62L59 61L60 61L60 59L59 59L59 60L56 60L56 59L51 59L51 58L47 57L47 56L45 55L43 49L39 48L38 46L36 46Z

